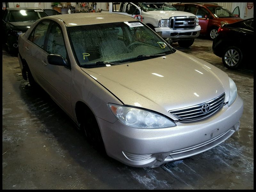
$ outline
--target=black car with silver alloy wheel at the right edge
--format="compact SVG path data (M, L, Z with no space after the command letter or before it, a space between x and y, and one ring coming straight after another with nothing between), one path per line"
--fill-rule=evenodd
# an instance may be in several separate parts
M232 24L226 24L218 29L218 36L213 40L213 53L222 58L225 67L239 68L244 61L252 61L254 49L253 18Z

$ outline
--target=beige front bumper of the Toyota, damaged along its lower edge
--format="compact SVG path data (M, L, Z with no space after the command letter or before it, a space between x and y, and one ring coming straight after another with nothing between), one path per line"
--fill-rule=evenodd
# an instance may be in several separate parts
M118 120L109 123L97 118L108 156L134 167L161 164L202 153L227 140L239 129L243 101L224 105L210 117L192 122L176 122L176 127L136 129Z

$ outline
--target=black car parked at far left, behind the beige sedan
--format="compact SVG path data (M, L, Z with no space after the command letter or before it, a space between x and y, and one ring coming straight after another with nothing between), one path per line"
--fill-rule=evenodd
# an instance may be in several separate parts
M10 53L18 52L18 37L38 19L48 16L39 8L7 8L3 11L3 42Z

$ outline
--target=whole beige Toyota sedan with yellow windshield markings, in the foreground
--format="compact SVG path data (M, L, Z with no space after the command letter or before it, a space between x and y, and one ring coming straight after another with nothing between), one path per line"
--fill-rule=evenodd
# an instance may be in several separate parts
M39 84L92 145L157 167L227 140L243 113L222 70L111 13L55 15L19 36L22 76Z

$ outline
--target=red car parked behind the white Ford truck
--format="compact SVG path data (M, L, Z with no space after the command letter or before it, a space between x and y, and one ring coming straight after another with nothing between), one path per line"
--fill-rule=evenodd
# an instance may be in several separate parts
M218 35L218 28L222 24L243 20L239 18L238 6L233 13L216 3L178 3L174 6L178 11L195 14L199 18L199 25L201 26L200 35L207 35L210 39L214 39ZM238 14L234 14L235 12Z

